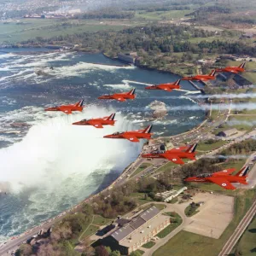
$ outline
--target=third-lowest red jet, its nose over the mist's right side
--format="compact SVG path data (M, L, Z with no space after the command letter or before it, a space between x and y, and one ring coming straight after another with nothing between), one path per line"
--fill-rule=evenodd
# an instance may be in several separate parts
M144 130L114 132L113 134L106 135L104 137L126 139L132 143L138 143L139 139L149 140L151 138L151 135L152 135L152 133L150 133L151 129L152 129L152 125L148 125L148 127Z

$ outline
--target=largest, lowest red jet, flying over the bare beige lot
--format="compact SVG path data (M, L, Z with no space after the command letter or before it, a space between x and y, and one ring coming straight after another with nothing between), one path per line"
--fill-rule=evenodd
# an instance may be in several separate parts
M197 183L215 183L224 189L236 189L236 187L234 187L231 183L247 184L248 170L249 166L244 166L235 176L230 175L232 172L236 171L234 168L215 173L202 173L195 177L188 177L184 179L184 181Z

